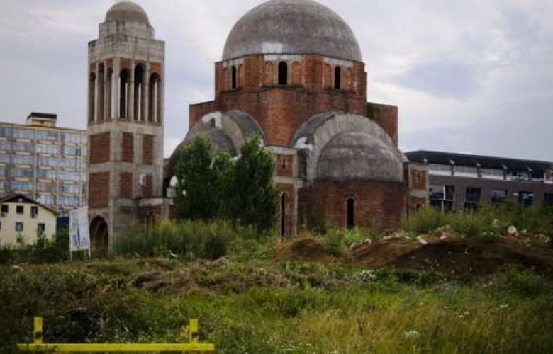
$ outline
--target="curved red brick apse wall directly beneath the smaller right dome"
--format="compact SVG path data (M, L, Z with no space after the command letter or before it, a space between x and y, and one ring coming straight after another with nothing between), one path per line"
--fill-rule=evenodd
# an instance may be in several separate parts
M353 197L356 227L395 229L406 215L407 193L403 183L315 181L302 190L300 217L323 227L346 227L347 198Z

